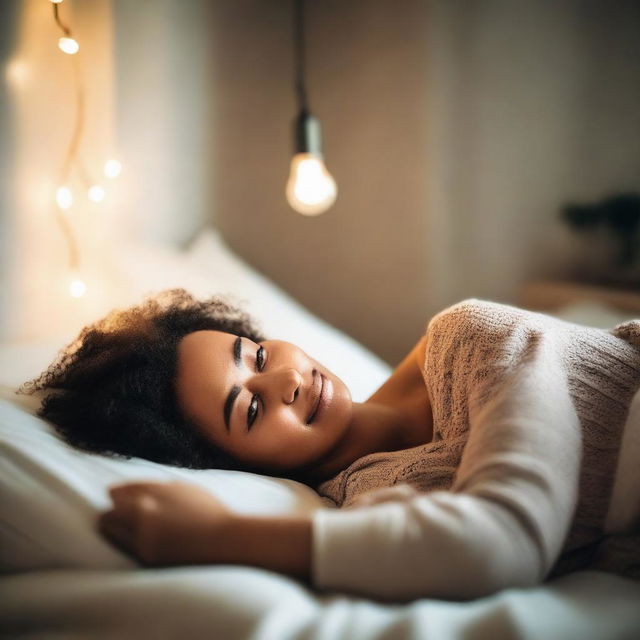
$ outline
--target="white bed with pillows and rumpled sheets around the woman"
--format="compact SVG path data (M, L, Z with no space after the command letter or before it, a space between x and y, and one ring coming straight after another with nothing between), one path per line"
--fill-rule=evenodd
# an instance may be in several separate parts
M252 270L212 229L185 251L139 246L120 251L118 264L127 290L121 292L118 306L171 286L184 286L196 295L232 293L258 318L265 334L299 344L342 377L355 400L365 400L390 372L386 363ZM589 309L593 314L593 306ZM596 318L573 305L558 315L595 324L605 318L608 323L617 313L602 305L597 311ZM583 315L576 317L579 313ZM68 447L35 415L37 398L18 396L14 389L38 374L72 337L0 345L3 637L640 637L640 584L595 571L471 602L423 598L382 604L316 592L253 567L140 568L95 530L111 484L142 478L193 482L242 513L311 513L333 505L292 480L178 469ZM640 396L635 402L640 407Z

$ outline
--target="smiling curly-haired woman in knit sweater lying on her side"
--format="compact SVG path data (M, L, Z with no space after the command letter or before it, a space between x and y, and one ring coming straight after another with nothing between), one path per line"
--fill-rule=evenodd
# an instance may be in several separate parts
M640 321L604 331L466 300L356 403L295 345L177 289L86 327L23 390L44 390L40 415L83 449L293 478L343 507L247 516L187 484L114 487L100 531L143 564L246 564L399 600L584 567L640 577L640 500L614 483L637 467L618 461L639 386Z

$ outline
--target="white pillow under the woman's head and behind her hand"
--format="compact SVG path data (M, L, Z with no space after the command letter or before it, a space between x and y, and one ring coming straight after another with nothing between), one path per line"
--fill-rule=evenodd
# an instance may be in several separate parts
M39 400L0 387L0 567L134 566L96 531L110 485L180 480L200 485L239 513L311 513L335 506L306 485L243 471L193 470L140 458L78 451L37 417Z

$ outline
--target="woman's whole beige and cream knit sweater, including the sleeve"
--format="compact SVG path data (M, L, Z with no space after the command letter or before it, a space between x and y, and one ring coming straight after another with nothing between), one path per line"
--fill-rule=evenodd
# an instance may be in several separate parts
M314 514L315 586L470 598L615 571L620 554L602 543L640 387L640 321L605 331L465 300L428 323L422 373L433 440L363 456L319 485L343 509ZM350 508L365 492L383 504Z

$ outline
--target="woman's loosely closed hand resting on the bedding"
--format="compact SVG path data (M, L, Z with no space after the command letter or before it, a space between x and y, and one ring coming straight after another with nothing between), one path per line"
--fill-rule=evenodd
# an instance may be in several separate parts
M209 492L182 482L111 487L113 508L99 531L149 566L224 563L237 515Z

